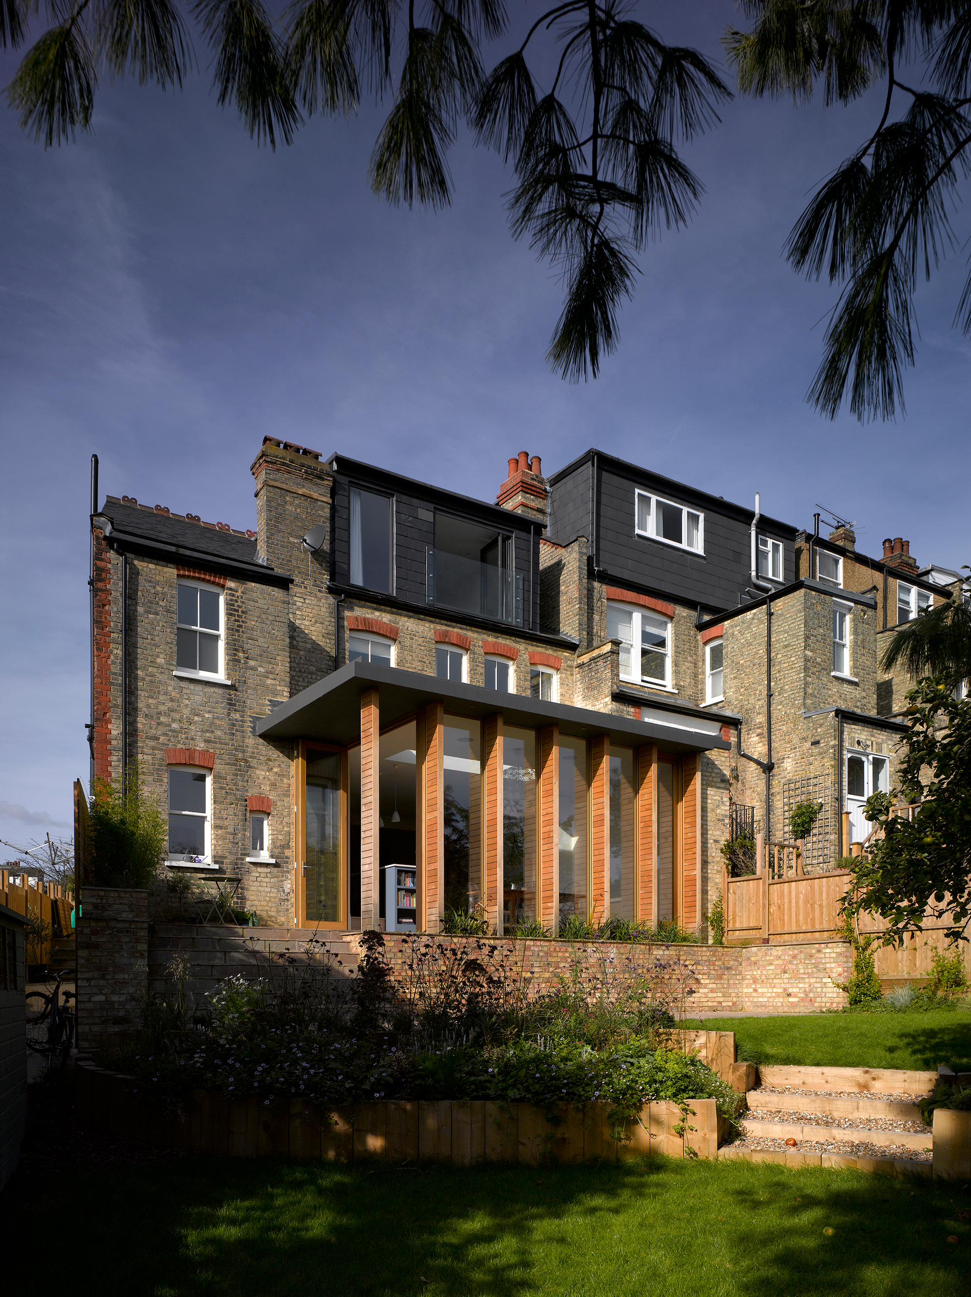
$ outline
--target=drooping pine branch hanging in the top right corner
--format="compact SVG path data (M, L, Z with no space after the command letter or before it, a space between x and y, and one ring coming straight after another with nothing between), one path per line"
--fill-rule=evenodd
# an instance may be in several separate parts
M971 161L971 5L739 3L755 23L725 44L743 93L805 102L822 83L827 105L849 104L885 82L874 132L815 191L786 253L808 278L843 285L808 399L830 418L847 396L861 420L892 418L914 363L918 278L955 246L950 213ZM955 324L971 336L971 276Z

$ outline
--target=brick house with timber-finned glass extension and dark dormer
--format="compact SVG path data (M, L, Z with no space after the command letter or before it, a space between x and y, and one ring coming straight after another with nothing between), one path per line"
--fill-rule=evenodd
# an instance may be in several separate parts
M137 764L170 870L222 866L301 927L700 923L727 717L625 695L539 459L495 505L272 438L253 475L255 532L127 497L92 516L92 774Z

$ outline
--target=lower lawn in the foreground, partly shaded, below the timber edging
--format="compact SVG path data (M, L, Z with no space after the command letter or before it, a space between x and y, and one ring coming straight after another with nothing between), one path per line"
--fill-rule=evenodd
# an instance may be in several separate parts
M10 1292L40 1266L52 1292L80 1280L106 1297L967 1297L970 1206L942 1182L664 1157L74 1165L0 1200Z

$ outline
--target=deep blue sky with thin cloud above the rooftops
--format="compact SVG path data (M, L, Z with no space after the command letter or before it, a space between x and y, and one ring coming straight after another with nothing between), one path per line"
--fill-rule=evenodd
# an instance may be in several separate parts
M509 8L515 34L539 12ZM730 0L634 10L719 64L739 22ZM4 86L19 56L0 58ZM250 528L266 434L484 499L519 450L550 473L596 446L747 506L760 490L797 527L822 503L869 554L902 536L922 564L971 563L961 209L957 252L917 294L906 416L831 423L804 401L836 292L799 279L782 245L883 93L725 105L683 150L699 213L644 252L620 349L579 385L544 362L561 292L508 233L511 170L467 134L454 205L434 214L369 191L388 105L316 118L272 153L205 71L175 95L105 83L93 132L44 152L3 102L0 837L70 835L71 781L88 778L92 451L102 498Z

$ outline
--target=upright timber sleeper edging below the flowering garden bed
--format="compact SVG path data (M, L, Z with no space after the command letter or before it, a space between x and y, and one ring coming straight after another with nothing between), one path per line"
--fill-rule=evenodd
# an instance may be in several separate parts
M714 1158L713 1099L692 1099L690 1123L669 1101L644 1104L616 1121L611 1104L533 1104L490 1100L379 1100L328 1109L302 1099L262 1101L193 1089L178 1113L134 1078L79 1062L76 1113L83 1126L161 1148L218 1157L294 1161L427 1162L525 1166L626 1157Z

